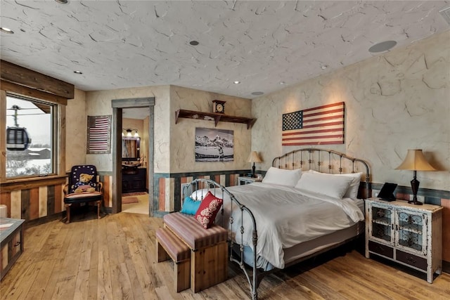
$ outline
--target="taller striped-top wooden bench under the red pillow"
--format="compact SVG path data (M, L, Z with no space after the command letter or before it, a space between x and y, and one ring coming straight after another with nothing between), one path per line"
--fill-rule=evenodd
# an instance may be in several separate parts
M191 215L179 212L163 217L164 226L191 249L191 289L207 289L228 277L228 232L218 225L205 229Z

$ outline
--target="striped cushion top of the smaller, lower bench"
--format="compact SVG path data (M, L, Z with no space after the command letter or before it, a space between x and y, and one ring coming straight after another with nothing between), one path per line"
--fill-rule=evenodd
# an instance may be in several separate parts
M191 259L191 251L189 248L170 230L158 228L156 230L156 240L158 240L175 263Z

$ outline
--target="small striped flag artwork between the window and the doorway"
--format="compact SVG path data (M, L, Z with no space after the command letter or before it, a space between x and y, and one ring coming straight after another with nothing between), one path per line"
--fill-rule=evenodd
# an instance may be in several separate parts
M111 116L88 116L87 153L110 152Z

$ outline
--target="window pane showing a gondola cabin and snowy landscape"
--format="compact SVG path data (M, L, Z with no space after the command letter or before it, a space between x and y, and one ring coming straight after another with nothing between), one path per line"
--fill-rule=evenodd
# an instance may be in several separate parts
M53 125L57 108L56 104L44 100L6 94L6 178L57 173L57 147L53 138L57 133L57 126ZM31 139L27 145L20 141L8 143L14 135L23 134Z

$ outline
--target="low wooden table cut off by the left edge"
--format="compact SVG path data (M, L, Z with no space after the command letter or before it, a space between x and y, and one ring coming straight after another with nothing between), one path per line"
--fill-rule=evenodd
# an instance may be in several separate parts
M0 218L0 280L23 252L25 220Z

